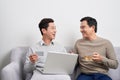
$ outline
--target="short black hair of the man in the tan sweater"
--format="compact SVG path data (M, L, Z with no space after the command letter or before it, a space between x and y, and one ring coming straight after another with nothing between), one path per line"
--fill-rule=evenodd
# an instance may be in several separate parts
M95 33L97 33L97 21L95 18L92 17L83 17L80 22L82 21L87 21L87 24L91 27L91 26L95 26Z

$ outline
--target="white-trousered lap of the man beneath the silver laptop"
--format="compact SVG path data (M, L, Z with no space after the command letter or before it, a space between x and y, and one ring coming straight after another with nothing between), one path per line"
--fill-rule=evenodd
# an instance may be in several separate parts
M35 70L31 80L71 80L69 75L47 75Z

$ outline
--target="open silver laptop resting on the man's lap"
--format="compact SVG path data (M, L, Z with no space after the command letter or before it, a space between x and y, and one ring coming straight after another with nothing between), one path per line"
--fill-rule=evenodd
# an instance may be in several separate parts
M72 74L77 57L77 54L48 52L44 67L40 71L44 74Z

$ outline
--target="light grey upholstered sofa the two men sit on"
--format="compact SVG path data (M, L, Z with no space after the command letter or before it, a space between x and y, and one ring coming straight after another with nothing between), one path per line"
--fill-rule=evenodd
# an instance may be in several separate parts
M11 50L10 63L1 70L1 80L24 80L23 63L28 47L18 47ZM72 48L66 48L69 51ZM120 62L120 47L115 47L117 59ZM120 64L116 70L110 69L112 80L120 80Z

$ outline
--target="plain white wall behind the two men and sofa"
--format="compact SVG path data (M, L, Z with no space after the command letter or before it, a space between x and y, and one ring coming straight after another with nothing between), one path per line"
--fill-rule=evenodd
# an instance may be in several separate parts
M18 46L30 46L41 39L39 21L51 17L57 26L56 41L73 46L81 38L80 19L98 21L98 35L120 46L120 0L0 0L0 69Z

